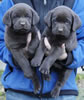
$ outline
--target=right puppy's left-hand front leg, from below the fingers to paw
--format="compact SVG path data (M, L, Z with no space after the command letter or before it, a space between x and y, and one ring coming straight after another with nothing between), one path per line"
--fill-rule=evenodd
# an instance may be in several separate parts
M39 44L39 47L36 50L34 58L31 61L32 66L37 67L41 65L42 59L44 57L44 51L45 51L45 48L44 48L44 43L42 39Z

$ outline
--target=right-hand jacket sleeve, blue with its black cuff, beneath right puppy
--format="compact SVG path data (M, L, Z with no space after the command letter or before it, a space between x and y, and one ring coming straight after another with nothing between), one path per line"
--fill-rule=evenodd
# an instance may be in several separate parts
M80 31L81 30L81 31ZM84 29L78 30L78 44L77 48L72 52L67 53L67 57L59 59L57 63L68 68L77 68L84 65ZM65 52L66 53L66 52Z

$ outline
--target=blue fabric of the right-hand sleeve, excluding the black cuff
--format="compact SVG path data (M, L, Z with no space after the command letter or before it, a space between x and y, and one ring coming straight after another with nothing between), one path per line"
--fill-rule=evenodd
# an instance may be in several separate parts
M81 33L79 33L78 37L80 38L78 39L77 48L72 51L73 62L68 68L77 68L84 65L84 29L81 29Z

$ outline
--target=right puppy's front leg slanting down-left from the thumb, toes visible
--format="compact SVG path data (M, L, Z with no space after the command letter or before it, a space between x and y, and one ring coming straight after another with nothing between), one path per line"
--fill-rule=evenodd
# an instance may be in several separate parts
M39 70L43 73L43 74L49 74L50 68L52 67L52 65L55 63L55 61L59 58L59 56L62 55L62 48L58 47L58 48L53 48L53 50L51 51L50 55L48 55L41 67L39 68Z

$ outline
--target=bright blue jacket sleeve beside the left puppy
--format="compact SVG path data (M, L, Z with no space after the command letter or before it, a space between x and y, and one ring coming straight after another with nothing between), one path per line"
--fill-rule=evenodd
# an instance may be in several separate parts
M13 67L12 55L6 48L4 42L5 25L3 24L3 16L12 5L13 2L11 0L3 0L0 3L0 60Z

